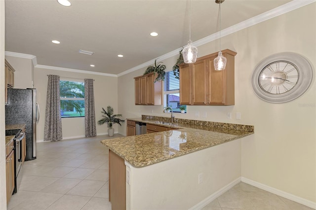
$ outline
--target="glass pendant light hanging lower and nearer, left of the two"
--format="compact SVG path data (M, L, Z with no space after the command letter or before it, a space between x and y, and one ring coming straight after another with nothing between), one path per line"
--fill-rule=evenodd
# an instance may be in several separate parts
M197 47L192 45L191 40L191 0L189 0L189 41L188 45L183 48L182 55L186 64L192 64L197 61Z

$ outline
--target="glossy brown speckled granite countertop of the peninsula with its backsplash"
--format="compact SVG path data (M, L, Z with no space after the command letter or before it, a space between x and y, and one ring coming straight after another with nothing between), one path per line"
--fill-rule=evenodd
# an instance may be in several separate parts
M128 120L157 124L164 127L179 128L179 130L101 140L102 144L134 167L152 165L254 134L253 126L250 126L252 127L252 130L244 131L231 129L229 128L230 124L225 123L221 123L221 126L219 126L221 128L210 128L205 125L184 125L181 123L161 125L148 119L142 120L141 118ZM228 128L226 125L229 125ZM199 129L196 129L196 127ZM237 126L237 129L240 129L240 127ZM247 129L248 128L245 130Z

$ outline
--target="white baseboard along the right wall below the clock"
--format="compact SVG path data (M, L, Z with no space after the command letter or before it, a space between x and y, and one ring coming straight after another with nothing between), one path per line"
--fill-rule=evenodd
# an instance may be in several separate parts
M302 205L305 205L307 207L316 209L316 203L315 202L306 200L304 198L298 197L296 195L293 195L293 194L290 194L290 193L287 193L287 192L283 192L283 191L278 190L276 188L270 187L268 185L265 185L265 184L262 184L262 183L259 183L259 182L256 182L256 181L253 181L253 180L245 178L245 177L241 177L241 181L244 182L244 183L250 184L252 186L258 187L260 189L266 190L268 192L274 193L274 194L276 194L278 196L281 196L283 198L289 199L291 201L295 201L295 202L297 202L299 204L302 204Z

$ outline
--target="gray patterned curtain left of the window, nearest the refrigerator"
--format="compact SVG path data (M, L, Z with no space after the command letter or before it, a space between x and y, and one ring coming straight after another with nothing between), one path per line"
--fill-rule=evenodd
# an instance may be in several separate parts
M48 75L44 141L62 140L59 76Z

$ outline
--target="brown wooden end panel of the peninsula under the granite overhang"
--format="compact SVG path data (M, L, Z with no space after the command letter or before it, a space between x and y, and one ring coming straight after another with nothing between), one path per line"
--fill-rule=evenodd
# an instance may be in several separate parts
M126 209L126 167L124 159L109 151L109 200L112 210Z

